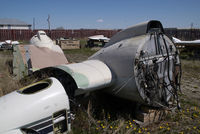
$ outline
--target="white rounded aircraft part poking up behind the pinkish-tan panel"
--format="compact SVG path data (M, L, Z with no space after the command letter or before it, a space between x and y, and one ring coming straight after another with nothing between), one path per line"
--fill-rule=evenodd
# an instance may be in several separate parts
M51 51L63 53L62 49L58 45L55 45L44 31L38 31L37 34L31 38L30 43L37 47L48 48Z

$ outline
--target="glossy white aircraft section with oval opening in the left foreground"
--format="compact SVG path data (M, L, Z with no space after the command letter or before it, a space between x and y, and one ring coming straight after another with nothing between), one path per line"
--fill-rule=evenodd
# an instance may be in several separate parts
M47 85L41 85L44 83ZM50 133L66 124L62 132L67 132L70 127L68 95L62 84L52 77L1 97L0 104L0 133L19 129ZM9 123L5 123L7 121Z

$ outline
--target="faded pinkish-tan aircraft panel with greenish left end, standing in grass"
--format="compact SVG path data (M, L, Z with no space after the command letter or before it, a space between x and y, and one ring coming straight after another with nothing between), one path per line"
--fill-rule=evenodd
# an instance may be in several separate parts
M64 53L34 45L15 46L13 56L13 74L17 79L42 68L68 63Z

